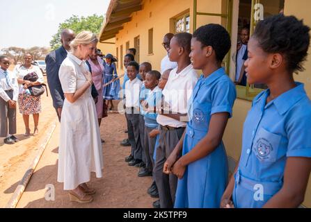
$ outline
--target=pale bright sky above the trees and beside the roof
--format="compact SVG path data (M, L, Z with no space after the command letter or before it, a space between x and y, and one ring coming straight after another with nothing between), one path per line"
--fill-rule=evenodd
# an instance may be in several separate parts
M110 0L1 0L0 50L49 46L58 25L72 15L104 15Z

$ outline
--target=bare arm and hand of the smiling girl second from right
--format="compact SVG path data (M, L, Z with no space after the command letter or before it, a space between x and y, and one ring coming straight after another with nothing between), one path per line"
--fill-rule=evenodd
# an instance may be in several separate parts
M173 173L178 178L181 179L184 176L187 165L209 155L221 143L228 118L228 112L218 112L212 115L207 135L189 153L183 155L180 157L180 160L175 162Z

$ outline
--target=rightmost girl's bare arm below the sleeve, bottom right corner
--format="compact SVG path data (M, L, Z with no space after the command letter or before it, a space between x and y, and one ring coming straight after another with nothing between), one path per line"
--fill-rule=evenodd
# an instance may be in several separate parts
M305 198L310 171L311 158L288 157L282 189L264 205L264 208L294 208L301 205Z

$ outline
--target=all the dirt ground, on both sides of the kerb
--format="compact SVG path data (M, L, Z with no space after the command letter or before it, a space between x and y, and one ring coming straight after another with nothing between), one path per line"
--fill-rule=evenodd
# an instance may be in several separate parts
M51 135L47 148L43 153L35 173L31 177L17 207L112 207L143 208L152 207L157 200L147 194L152 183L151 177L138 178L138 168L129 167L125 157L129 155L130 146L120 146L122 139L127 138L124 114L109 113L100 127L103 144L104 169L103 178L95 178L92 174L89 185L96 189L94 201L88 204L72 203L63 184L56 181L58 164L58 138L60 134L56 112L52 107L51 96L42 96L42 114L40 114L39 130L36 137L24 137L24 122L17 112L17 144L3 144L0 138L0 207L5 207L13 195L26 169L44 144L51 126L56 122L56 129ZM115 103L117 107L117 103ZM33 131L33 120L30 119ZM32 132L31 131L31 132ZM46 186L55 188L55 200L46 200Z

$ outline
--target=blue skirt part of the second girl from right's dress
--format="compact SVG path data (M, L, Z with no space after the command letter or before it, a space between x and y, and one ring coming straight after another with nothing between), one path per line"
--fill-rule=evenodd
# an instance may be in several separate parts
M188 126L187 126L188 127ZM184 137L183 155L200 139ZM223 143L206 157L186 167L178 180L175 208L218 208L228 182L228 162Z

